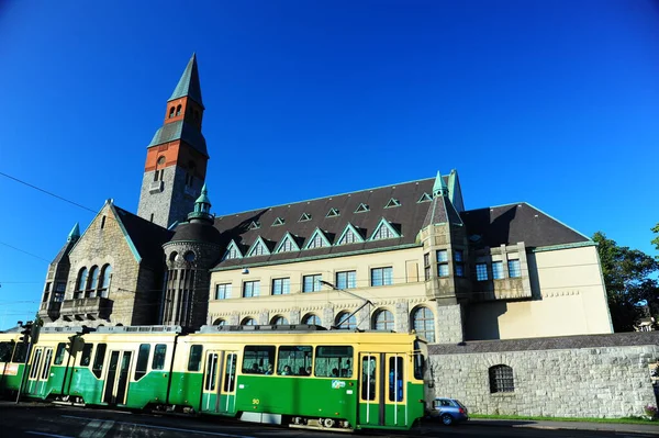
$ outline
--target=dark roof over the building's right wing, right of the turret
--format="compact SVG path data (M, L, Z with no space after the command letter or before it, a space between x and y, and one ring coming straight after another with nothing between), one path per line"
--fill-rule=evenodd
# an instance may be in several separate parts
M468 210L460 216L471 243L477 246L496 247L524 242L526 247L537 248L591 242L526 202Z

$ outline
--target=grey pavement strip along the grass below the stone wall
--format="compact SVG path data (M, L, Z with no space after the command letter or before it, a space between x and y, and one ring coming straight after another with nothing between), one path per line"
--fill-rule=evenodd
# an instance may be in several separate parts
M548 430L603 430L623 434L654 434L659 435L659 422L646 424L625 423L594 423L594 422L546 422L535 419L492 419L471 418L469 425L474 426L500 426L500 427L526 427Z

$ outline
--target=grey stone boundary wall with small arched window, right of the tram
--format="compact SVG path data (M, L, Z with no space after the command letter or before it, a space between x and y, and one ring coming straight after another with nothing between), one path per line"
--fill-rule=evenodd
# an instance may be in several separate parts
M618 418L657 405L659 332L461 344L429 347L434 391L474 414ZM490 392L496 364L513 369L513 392Z

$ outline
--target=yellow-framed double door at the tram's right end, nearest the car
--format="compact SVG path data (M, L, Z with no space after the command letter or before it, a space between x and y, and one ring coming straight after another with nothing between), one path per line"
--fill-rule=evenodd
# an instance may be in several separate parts
M404 355L361 353L359 362L359 423L405 426Z

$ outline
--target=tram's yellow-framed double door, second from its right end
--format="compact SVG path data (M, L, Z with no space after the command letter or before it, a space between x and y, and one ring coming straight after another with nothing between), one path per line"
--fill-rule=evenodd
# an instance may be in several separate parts
M209 350L205 353L201 411L233 414L236 409L236 351Z

